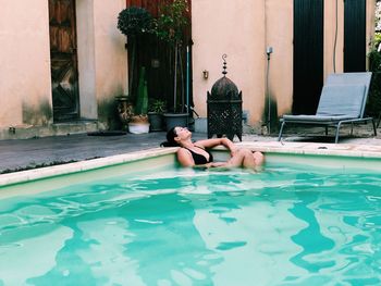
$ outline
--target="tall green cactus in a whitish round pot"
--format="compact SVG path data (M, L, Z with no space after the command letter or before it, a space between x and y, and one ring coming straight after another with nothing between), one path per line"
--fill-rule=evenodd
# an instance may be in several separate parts
M137 87L136 105L134 115L128 123L128 132L133 134L143 134L149 132L148 122L148 88L145 79L146 69L142 66L139 84Z

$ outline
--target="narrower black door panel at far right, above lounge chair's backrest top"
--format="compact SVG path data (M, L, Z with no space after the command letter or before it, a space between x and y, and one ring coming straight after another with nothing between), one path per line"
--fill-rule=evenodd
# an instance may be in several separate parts
M344 1L344 72L366 71L366 0Z

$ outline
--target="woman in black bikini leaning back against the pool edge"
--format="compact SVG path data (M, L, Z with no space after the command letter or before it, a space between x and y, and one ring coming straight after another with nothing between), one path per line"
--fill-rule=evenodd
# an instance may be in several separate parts
M228 162L213 162L212 154L207 148L223 145L230 150L231 158ZM167 147L182 147L177 151L177 160L183 166L206 166L206 167L248 167L256 170L263 161L261 152L251 152L245 148L237 148L228 138L213 138L192 141L192 132L185 127L173 127L167 133Z

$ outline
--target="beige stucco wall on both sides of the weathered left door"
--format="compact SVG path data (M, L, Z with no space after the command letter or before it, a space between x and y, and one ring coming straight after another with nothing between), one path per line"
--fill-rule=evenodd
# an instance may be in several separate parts
M0 128L51 125L48 1L0 0ZM83 119L112 116L114 96L126 92L125 38L116 28L123 9L125 0L76 1Z

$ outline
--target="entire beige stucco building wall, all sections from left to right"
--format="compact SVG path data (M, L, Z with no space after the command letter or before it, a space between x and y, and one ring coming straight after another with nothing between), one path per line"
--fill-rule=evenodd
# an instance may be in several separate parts
M367 1L367 48L376 0ZM207 91L222 76L243 91L251 125L262 123L266 47L273 47L269 91L278 113L291 111L293 94L293 0L192 1L195 109L206 116ZM114 96L127 90L125 38L116 28L125 0L77 0L81 116L113 113ZM339 3L336 72L343 70L343 1ZM0 0L0 128L52 123L49 15L46 0ZM21 21L22 20L22 21ZM275 21L274 21L275 20ZM333 71L335 1L324 1L324 76ZM202 78L202 71L209 78Z

